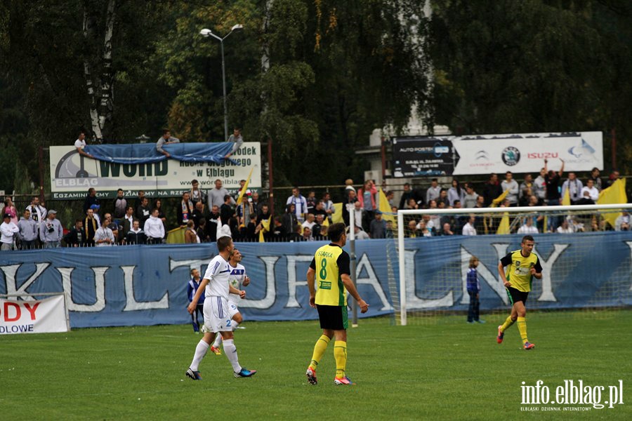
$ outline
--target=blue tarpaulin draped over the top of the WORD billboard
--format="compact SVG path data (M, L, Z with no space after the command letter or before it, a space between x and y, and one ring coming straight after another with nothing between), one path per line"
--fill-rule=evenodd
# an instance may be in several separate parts
M216 143L171 143L162 149L169 152L170 159L184 162L215 162L224 161L224 156L230 152L232 142ZM126 145L86 145L85 151L99 161L115 163L154 163L164 161L167 157L156 149L155 143L140 143ZM230 160L230 159L229 159ZM236 162L230 160L232 163Z

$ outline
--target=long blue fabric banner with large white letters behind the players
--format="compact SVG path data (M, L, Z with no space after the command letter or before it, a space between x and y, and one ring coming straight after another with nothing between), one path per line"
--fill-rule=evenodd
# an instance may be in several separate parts
M497 265L508 251L520 248L520 237L407 239L407 308L466 311L468 262L476 255L481 310L507 309ZM317 319L316 310L308 304L306 273L322 244L236 243L251 278L244 288L246 299L239 302L244 320ZM38 293L63 290L69 297L73 328L189 323L190 270L200 269L204 274L216 253L214 243L6 252L0 262L0 293L36 299ZM395 241L357 241L356 253L357 288L370 305L369 312L359 316L392 314L393 294L399 294ZM544 276L533 283L529 308L632 305L630 232L540 234L536 235L536 253ZM8 310L9 319L15 317L15 310ZM2 309L0 319L5 314ZM24 317L28 321L26 308Z

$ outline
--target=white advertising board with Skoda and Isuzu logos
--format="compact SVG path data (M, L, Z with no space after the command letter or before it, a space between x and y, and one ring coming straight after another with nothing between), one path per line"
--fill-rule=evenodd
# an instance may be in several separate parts
M463 136L453 138L453 143L454 175L539 173L544 159L555 171L560 169L560 159L565 171L603 169L601 132Z

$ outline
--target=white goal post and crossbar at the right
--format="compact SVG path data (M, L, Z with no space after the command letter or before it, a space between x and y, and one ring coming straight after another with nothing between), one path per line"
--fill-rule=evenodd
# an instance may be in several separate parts
M612 213L616 213L617 211L619 211L619 213L621 212L621 210L623 209L632 209L632 203L621 203L621 204L607 204L607 205L572 205L572 206L520 206L520 207L512 207L512 208L506 208L506 207L501 207L501 208L449 208L449 209L409 209L409 210L398 210L397 211L397 256L398 256L398 267L399 267L399 300L400 300L400 308L399 308L399 314L396 314L395 316L399 316L400 319L400 323L402 326L406 326L407 324L407 302L409 301L410 297L414 297L415 294L415 284L416 284L416 279L407 279L407 274L409 274L408 277L411 277L410 274L412 273L412 277L414 278L415 274L414 272L407 272L406 269L406 265L407 265L407 257L406 257L406 246L407 243L409 241L420 241L423 242L425 240L423 239L406 239L404 240L404 237L406 237L407 235L404 235L404 229L406 229L406 225L404 225L404 217L407 216L411 216L411 215L416 215L421 217L421 215L430 215L430 216L435 216L435 218L437 218L438 215L442 215L442 216L446 216L446 215L469 215L469 214L473 214L473 215L479 215L482 216L480 214L484 214L485 217L494 217L496 218L496 220L503 218L503 216L506 215L513 215L513 217L515 217L516 220L520 220L519 218L525 217L527 215L532 215L533 217L538 216L538 215L546 215L546 218L562 218L562 215L601 215L601 214L612 214ZM546 222L545 222L546 223ZM546 229L545 229L546 231ZM629 239L631 241L629 241L628 243L630 244L631 250L632 250L632 232L630 232L630 237ZM460 234L460 233L459 233ZM548 238L548 236L555 236L555 235L562 235L562 234L556 234L556 233L549 233L549 232L542 232L539 234L534 234L536 236L538 236L539 239L542 238ZM580 234L583 235L583 234ZM607 235L607 233L604 233L603 235ZM489 237L489 241L490 244L493 246L494 242L499 242L499 239L507 238L508 236L504 235L504 234L496 234L494 231L494 234L486 234L484 235L485 237ZM626 237L628 238L628 237ZM449 239L446 239L447 241L450 241ZM581 238L578 238L578 240L581 240ZM514 240L515 241L515 240ZM588 239L584 240L584 241L589 241ZM420 243L416 243L416 244L420 244ZM581 241L578 241L578 244L581 243ZM441 253L437 252L436 255L433 254L433 256L438 256L439 258L441 257ZM632 258L632 255L631 255ZM491 273L492 275L495 274L497 271L494 270L494 272L492 272L492 269L489 269L488 276L490 276L489 274ZM460 272L459 272L460 273ZM496 274L496 280L498 278L498 275ZM440 300L437 300L437 302L439 302ZM397 312L397 309L395 309L395 312Z

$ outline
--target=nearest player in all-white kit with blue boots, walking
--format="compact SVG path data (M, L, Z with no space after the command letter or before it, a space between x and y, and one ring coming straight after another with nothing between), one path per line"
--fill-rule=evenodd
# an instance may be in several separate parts
M187 307L188 312L192 314L197 306L197 300L199 300L200 295L204 292L204 326L206 326L207 331L204 333L204 338L202 338L197 344L197 347L195 347L193 361L187 370L187 377L190 377L192 380L202 379L198 370L199 363L204 358L206 351L209 350L217 333L220 333L224 338L224 352L232 365L235 377L251 377L257 372L256 370L248 370L239 365L237 348L235 348L235 343L233 342L231 325L235 323L235 321L237 323L241 322L242 316L237 312L236 306L235 309L232 309L232 307L228 305L228 293L237 294L240 297L246 296L246 291L238 290L228 283L230 276L228 260L235 246L230 237L223 236L217 239L217 248L219 254L209 263L209 267L206 268L206 273L204 274L204 279L202 279L193 300Z

